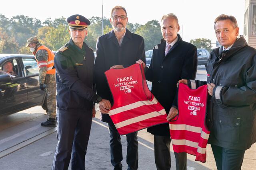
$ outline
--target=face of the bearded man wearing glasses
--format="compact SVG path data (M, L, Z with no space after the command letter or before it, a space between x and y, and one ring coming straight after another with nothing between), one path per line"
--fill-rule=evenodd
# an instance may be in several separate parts
M115 31L121 32L126 28L128 18L123 9L116 9L112 12L110 23Z

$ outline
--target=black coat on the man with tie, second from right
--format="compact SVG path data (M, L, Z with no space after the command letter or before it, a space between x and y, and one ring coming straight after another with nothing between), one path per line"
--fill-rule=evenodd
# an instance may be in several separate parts
M152 81L152 94L168 114L172 106L177 106L177 83L180 79L194 79L197 70L197 50L190 43L182 41L178 34L178 41L164 57L166 41L153 49L153 56L149 68L146 69L146 79ZM169 125L162 124L148 128L154 135L170 136Z

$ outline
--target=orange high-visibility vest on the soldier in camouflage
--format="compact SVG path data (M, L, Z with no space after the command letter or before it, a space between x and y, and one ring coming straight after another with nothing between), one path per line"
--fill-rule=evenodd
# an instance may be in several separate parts
M47 66L46 74L55 74L55 68L52 68L53 65L54 65L54 53L52 53L52 51L50 49L48 49L46 46L44 46L44 45L41 45L40 47L38 47L38 49L36 50L36 53L39 50L42 50L42 49L44 49L44 50L46 50L48 52L48 62L47 63L45 61L39 61L38 62L37 59L36 59L39 68Z

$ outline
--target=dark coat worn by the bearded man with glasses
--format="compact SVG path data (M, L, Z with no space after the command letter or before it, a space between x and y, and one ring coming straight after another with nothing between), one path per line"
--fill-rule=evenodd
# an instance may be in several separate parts
M96 56L94 81L97 94L113 103L104 72L114 65L128 67L135 64L139 59L145 62L144 39L126 29L121 47L119 47L116 35L112 30L98 38ZM105 122L111 121L108 114L102 114L101 118Z

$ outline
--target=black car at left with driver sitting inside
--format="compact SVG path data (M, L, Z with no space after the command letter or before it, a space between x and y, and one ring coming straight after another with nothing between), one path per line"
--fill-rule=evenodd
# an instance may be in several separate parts
M8 62L15 74L4 72ZM38 64L33 55L0 54L0 115L37 105L47 109L47 94L40 90L38 77Z

